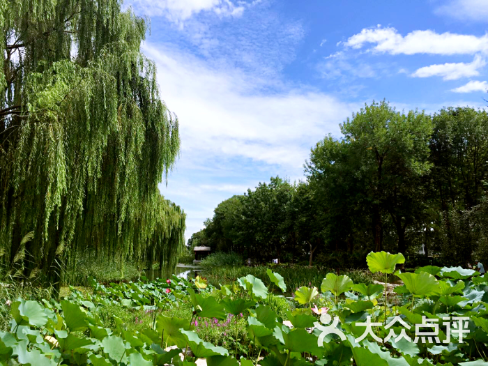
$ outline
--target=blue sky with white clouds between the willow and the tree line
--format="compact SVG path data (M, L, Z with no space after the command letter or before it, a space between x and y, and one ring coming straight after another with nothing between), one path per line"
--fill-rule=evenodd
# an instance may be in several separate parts
M303 179L310 148L364 103L488 103L488 1L132 0L144 52L180 121L160 190L186 238L221 201L270 176Z

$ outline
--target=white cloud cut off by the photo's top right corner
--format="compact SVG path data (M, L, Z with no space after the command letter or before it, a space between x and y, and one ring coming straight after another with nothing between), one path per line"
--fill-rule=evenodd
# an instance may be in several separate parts
M434 10L438 15L447 15L457 20L488 22L488 1L450 0Z

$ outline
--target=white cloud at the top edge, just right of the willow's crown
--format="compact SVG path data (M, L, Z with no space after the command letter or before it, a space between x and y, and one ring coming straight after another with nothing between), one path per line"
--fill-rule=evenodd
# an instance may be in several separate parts
M235 5L230 0L129 0L125 6L132 6L136 13L151 17L163 15L174 22L181 22L203 11L213 11L222 16L239 16L247 3L239 2L239 5Z

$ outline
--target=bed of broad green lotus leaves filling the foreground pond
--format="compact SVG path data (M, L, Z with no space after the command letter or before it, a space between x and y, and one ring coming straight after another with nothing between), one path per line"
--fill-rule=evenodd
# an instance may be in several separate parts
M395 272L402 254L370 253L373 273L404 285L386 293L328 273L293 300L282 275L219 289L204 278L71 288L61 300L8 299L3 365L488 365L488 276L427 266ZM121 314L121 317L119 317ZM326 329L326 330L324 330Z

